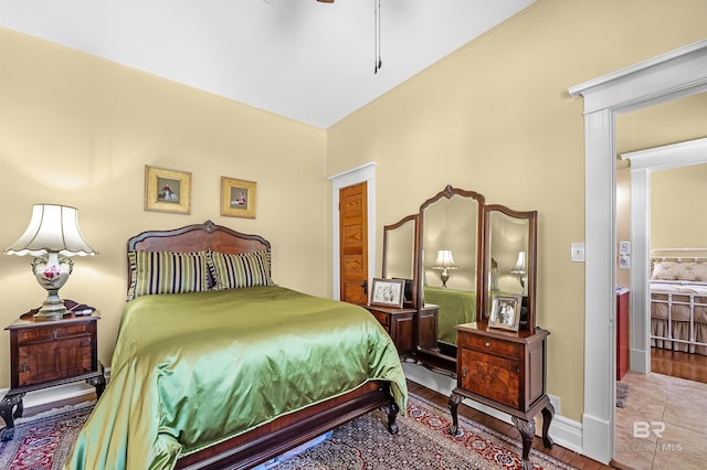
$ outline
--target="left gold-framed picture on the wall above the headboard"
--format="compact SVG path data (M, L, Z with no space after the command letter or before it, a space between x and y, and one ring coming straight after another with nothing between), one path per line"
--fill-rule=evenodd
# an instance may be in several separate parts
M145 210L191 213L191 172L145 165Z

